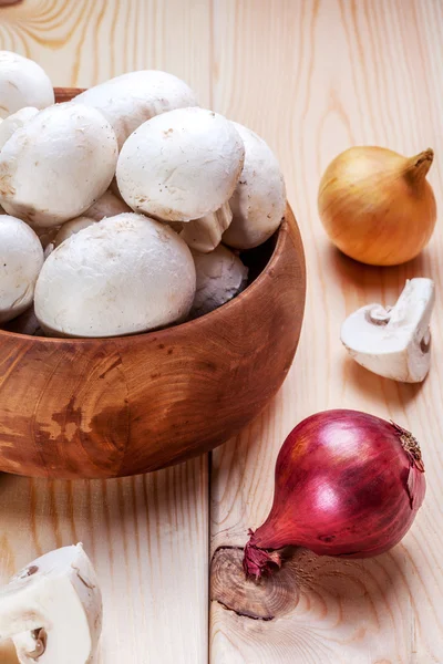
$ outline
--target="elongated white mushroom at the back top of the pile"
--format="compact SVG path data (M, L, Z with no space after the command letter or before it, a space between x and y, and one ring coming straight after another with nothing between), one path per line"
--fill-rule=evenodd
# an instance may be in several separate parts
M114 127L120 148L130 134L151 117L197 105L194 92L184 81L157 70L122 74L90 87L75 101L103 113Z

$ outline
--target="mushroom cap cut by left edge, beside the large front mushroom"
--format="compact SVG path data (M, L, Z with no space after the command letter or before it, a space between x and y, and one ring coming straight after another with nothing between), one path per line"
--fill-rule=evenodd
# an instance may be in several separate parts
M43 264L43 248L24 221L0 216L0 322L10 321L32 304Z

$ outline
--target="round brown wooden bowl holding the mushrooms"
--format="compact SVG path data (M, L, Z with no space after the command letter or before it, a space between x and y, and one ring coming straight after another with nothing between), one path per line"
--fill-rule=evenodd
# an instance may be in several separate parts
M298 344L306 276L289 208L275 237L243 258L253 283L175 328L114 339L0 331L0 470L121 477L236 435L276 394Z

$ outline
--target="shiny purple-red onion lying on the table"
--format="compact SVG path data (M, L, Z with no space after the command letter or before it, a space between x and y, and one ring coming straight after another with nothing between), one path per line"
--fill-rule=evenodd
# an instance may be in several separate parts
M274 505L245 548L255 578L280 567L276 549L368 558L400 542L426 490L415 438L358 411L303 419L278 455Z

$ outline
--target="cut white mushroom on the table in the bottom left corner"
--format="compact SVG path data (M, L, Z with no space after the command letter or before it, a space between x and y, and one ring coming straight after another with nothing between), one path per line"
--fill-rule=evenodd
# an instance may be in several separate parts
M82 544L38 558L0 590L0 640L20 664L91 664L102 630L102 595Z

